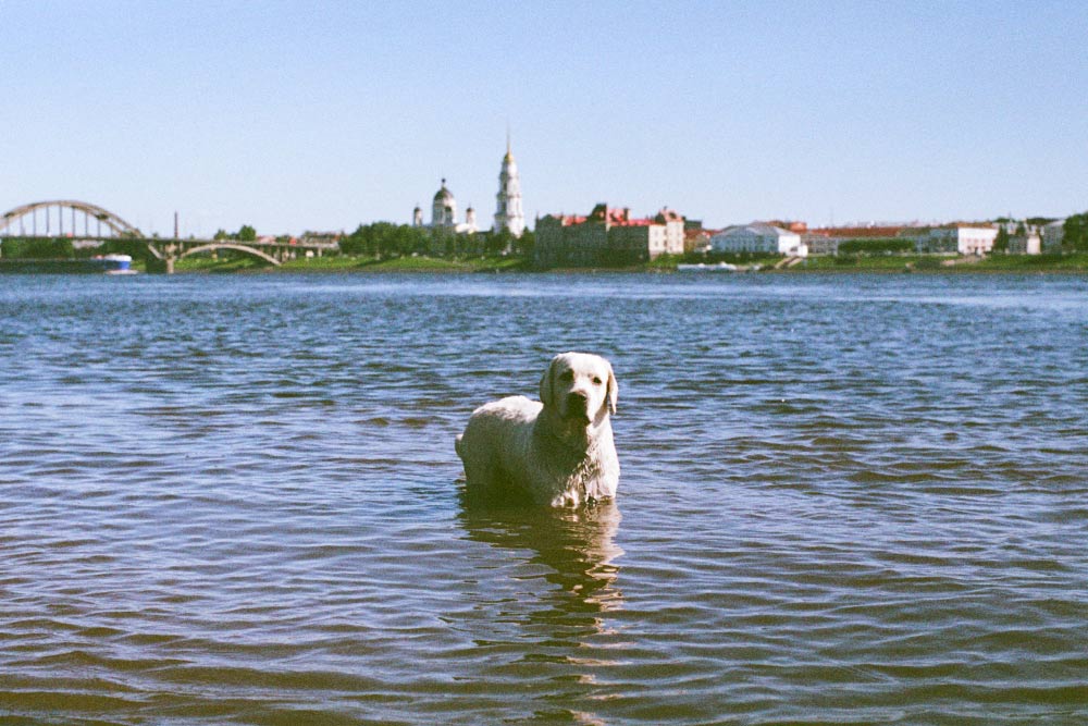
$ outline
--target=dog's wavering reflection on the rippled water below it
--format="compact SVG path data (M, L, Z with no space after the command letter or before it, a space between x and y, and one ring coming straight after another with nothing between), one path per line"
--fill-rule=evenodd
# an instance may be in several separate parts
M541 628L544 637L578 638L598 632L598 616L621 606L614 587L623 554L615 542L620 514L614 501L558 509L466 505L460 520L471 540L500 551L489 552L475 569L509 573L477 580L481 601L502 610L499 619ZM536 592L532 581L540 579L553 587Z

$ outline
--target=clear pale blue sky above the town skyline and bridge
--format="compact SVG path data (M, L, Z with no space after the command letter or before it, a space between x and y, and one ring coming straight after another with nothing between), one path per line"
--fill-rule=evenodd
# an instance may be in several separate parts
M145 232L1088 210L1088 2L0 0L0 208Z

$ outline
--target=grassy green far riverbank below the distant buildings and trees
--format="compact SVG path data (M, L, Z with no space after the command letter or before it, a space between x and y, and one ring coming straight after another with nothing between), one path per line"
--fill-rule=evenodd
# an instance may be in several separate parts
M993 255L982 259L906 255L888 257L809 257L783 269L775 269L781 257L737 260L746 274L811 274L811 273L904 273L979 274L979 273L1088 273L1088 253L1073 255ZM564 268L551 272L659 272L675 273L679 258L659 258L642 264L621 268ZM694 260L692 260L694 261ZM733 260L730 260L733 261ZM178 260L178 273L264 273L264 272L336 272L336 273L466 273L466 272L534 272L531 263L517 257L395 257L375 259L337 255L300 258L273 268L256 259L212 259L210 257ZM685 274L709 274L691 272ZM714 274L730 274L715 272ZM740 274L740 273L737 273Z

